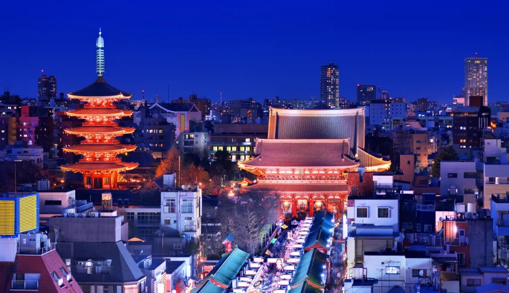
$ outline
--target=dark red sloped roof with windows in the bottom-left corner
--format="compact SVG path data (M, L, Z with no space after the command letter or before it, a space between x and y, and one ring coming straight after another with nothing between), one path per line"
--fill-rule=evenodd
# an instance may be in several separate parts
M69 272L67 267L55 250L43 255L17 255L16 262L0 263L0 290L2 292L33 292L33 290L11 290L11 280L13 274L41 274L39 279L39 292L78 292L83 291L71 275L70 281L67 281L66 275L62 273ZM8 272L6 271L8 270ZM60 287L53 278L55 272L58 278L63 278L63 286Z

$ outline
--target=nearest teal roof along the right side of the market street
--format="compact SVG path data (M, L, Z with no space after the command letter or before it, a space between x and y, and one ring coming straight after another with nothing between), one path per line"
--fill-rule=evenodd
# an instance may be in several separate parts
M325 271L324 267L327 263L327 258L329 258L327 254L320 252L316 248L304 253L297 264L297 270L290 284L291 288L299 287L303 283L315 287L315 290L316 288L324 288L325 284L322 282L322 274Z

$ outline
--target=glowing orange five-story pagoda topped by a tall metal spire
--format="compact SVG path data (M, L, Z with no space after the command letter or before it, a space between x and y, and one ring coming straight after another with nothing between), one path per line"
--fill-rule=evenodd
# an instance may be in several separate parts
M119 172L136 168L137 163L122 162L117 156L136 149L135 145L123 145L116 138L131 134L134 128L121 127L115 122L132 111L117 109L114 102L128 99L131 94L120 91L107 84L104 72L104 40L99 31L96 42L96 71L98 78L88 87L69 93L70 99L86 102L82 109L68 111L68 116L85 120L79 127L66 129L67 134L83 137L79 145L64 147L66 152L83 155L75 164L62 166L64 171L83 174L83 184L87 189L118 189Z

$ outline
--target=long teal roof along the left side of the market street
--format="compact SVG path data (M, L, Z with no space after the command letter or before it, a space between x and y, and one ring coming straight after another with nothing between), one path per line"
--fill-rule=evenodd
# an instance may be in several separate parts
M192 289L191 292L225 292L224 289L221 289L220 286L215 283L229 287L248 258L249 253L240 250L238 247L223 254L222 258L217 262L205 279L197 283L196 287Z

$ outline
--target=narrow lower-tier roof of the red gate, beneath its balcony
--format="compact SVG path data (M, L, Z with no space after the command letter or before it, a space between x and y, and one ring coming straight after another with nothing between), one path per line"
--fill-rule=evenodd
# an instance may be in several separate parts
M274 191L274 192L348 192L345 184L318 183L268 183L260 182L242 188L245 191Z

